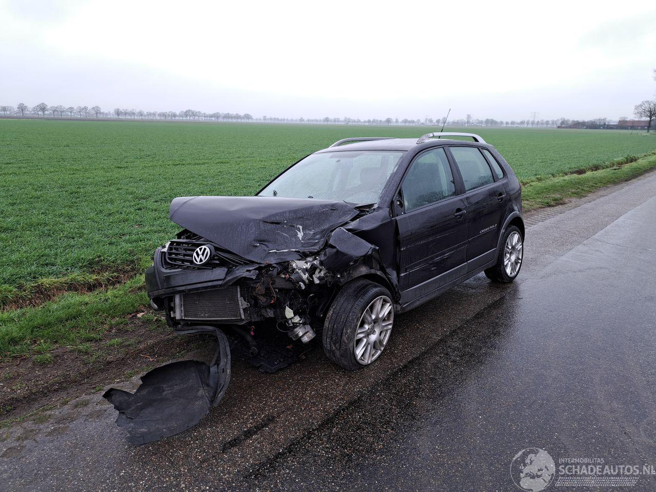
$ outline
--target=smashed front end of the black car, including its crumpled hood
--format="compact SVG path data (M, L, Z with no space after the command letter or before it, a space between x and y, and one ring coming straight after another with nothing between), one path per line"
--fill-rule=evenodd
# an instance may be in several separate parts
M155 252L148 295L176 330L270 320L309 342L346 279L394 283L378 248L344 228L366 213L321 200L175 199L171 219L186 229Z

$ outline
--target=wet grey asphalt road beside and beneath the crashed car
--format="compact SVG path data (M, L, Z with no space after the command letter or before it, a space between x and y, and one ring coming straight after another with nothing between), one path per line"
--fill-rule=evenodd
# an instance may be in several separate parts
M20 424L0 488L505 491L529 447L656 468L655 195L650 174L532 226L514 285L478 276L399 316L357 373L318 347L274 375L236 363L207 419L141 447L97 394Z

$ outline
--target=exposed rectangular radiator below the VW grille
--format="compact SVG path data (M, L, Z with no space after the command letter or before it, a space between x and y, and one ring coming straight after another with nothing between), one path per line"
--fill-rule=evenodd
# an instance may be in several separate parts
M238 285L174 297L176 319L245 319L247 304Z

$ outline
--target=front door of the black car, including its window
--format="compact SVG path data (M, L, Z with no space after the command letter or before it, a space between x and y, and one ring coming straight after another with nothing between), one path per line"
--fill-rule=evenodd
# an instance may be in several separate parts
M401 302L421 297L465 273L467 221L445 150L411 163L396 199Z

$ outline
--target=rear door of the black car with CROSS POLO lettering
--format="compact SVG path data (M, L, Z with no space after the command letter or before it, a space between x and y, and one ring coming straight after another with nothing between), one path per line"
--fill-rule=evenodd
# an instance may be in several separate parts
M490 262L497 249L508 200L504 179L495 178L483 154L474 146L451 146L464 184L468 222L467 271Z

